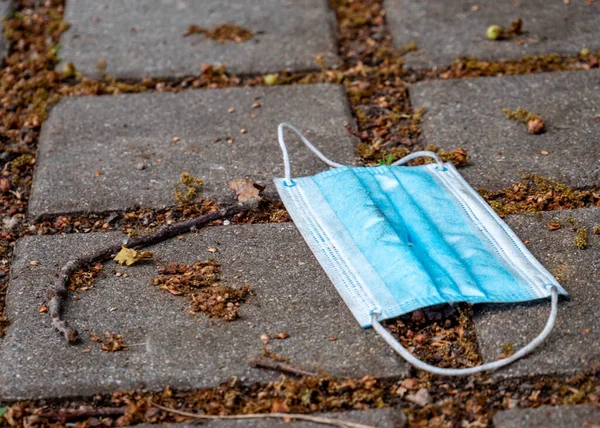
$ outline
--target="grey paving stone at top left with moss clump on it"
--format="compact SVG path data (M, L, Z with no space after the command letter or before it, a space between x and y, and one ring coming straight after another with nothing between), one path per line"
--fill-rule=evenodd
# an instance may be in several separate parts
M199 75L202 64L238 74L318 70L315 56L338 63L335 18L326 0L78 0L67 2L70 29L60 57L98 77L98 62L120 79ZM183 34L190 25L235 24L254 33L242 43Z

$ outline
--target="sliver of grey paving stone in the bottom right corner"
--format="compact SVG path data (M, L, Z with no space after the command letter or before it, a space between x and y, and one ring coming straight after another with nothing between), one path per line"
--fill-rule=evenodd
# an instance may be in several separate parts
M511 409L494 416L496 428L588 428L600 421L600 409L593 405L542 406L537 409Z

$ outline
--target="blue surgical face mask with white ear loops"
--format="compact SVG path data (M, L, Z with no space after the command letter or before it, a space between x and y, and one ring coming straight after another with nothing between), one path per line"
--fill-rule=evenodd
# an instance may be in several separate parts
M292 178L284 129L334 169ZM552 329L567 294L454 166L432 152L392 165L348 167L327 159L281 124L285 178L275 185L294 223L362 327L372 326L413 365L442 375L492 370L520 358ZM401 166L417 157L435 163ZM552 297L544 331L511 357L440 369L412 356L379 323L426 306Z

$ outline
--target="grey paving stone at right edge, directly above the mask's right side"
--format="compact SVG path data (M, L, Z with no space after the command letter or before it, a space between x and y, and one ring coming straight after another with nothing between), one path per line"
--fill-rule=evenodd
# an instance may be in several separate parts
M461 173L486 189L510 185L522 172L573 186L600 185L599 94L600 70L411 86L413 105L427 108L424 142L467 149L472 158ZM528 134L526 124L504 116L503 108L517 107L538 113L546 132Z

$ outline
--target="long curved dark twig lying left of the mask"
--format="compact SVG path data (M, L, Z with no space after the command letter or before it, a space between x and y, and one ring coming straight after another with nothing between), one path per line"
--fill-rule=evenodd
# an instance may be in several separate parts
M215 220L221 220L231 217L242 211L253 209L255 208L256 204L257 200L251 199L243 204L237 204L232 207L204 214L180 223L164 225L154 233L140 236L138 238L128 239L126 245L128 248L145 248L174 236L181 235L182 233L186 233L194 227L204 227ZM108 247L96 251L95 253L69 260L60 270L60 274L58 275L54 285L48 290L48 312L50 313L50 317L52 319L52 326L54 326L54 328L58 330L58 332L65 339L67 339L69 343L76 342L78 337L77 330L71 327L62 317L64 302L69 294L69 276L80 267L92 263L102 262L111 258L114 256L114 254L119 252L121 245L121 243L109 245Z

